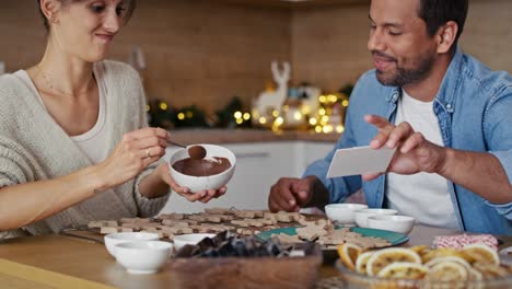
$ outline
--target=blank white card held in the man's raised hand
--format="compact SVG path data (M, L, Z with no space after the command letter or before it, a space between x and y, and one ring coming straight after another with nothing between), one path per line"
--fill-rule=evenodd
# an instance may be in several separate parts
M394 153L395 149L386 147L376 150L370 147L336 150L327 177L385 172Z

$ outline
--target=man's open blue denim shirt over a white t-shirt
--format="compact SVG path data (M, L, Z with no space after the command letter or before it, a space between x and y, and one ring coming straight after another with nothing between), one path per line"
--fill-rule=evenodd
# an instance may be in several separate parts
M304 176L317 176L329 190L330 203L342 203L362 188L371 208L385 206L385 175L362 182L360 175L326 178L336 149L368 146L376 128L363 116L374 114L394 122L402 90L382 85L375 70L356 84L347 111L345 132L325 159L307 166ZM501 162L512 182L512 78L494 72L459 49L444 76L433 102L444 146L457 150L489 152ZM496 205L449 182L461 229L470 232L512 234L512 203ZM410 192L415 194L415 192ZM426 196L418 196L421 201Z

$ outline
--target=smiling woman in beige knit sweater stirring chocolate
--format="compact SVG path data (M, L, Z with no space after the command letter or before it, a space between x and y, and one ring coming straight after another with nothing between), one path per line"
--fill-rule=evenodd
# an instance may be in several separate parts
M174 183L168 132L148 128L139 76L104 61L133 1L39 0L42 60L0 78L0 239L58 232L91 220L149 217Z

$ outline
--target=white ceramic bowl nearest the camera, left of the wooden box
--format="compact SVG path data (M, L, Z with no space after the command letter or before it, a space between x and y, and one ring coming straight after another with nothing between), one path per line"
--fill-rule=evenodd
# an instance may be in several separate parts
M117 262L132 274L156 273L171 257L173 244L164 241L128 242L116 245Z

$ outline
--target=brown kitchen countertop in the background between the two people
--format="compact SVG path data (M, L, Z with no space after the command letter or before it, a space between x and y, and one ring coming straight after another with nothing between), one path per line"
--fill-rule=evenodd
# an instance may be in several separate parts
M181 143L244 143L272 141L312 141L331 142L339 139L339 134L315 134L286 130L274 132L265 129L175 129L172 139Z

